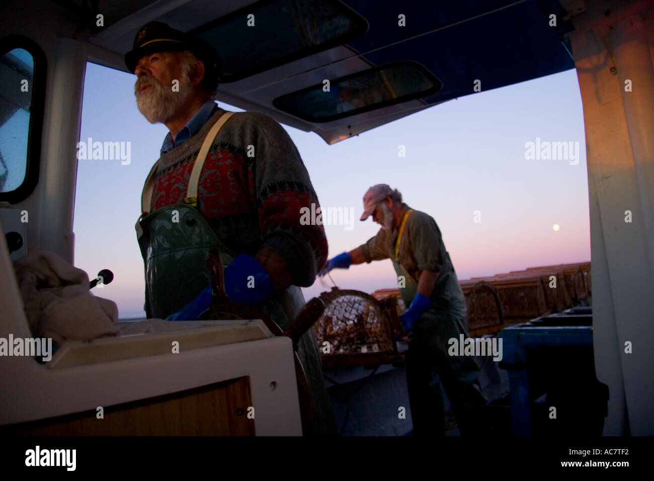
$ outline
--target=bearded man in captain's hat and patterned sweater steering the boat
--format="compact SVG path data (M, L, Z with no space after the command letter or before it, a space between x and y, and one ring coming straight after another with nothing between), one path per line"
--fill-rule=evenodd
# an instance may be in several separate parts
M327 258L322 225L300 223L318 205L298 149L262 113L226 112L213 101L220 58L211 45L162 22L137 33L125 56L137 107L169 133L141 196L136 224L145 262L148 318L196 319L211 300L207 252L218 249L226 294L285 329ZM313 330L301 338L315 426L336 434Z

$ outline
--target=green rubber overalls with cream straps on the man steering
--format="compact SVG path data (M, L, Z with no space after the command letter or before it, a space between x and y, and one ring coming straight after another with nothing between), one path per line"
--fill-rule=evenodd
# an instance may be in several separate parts
M141 195L143 212L135 225L139 248L145 264L145 312L148 319L165 319L168 315L194 300L211 284L207 253L218 249L222 265L227 266L237 257L216 236L209 223L196 209L198 183L207 154L218 131L233 115L226 112L209 130L195 160L184 204L167 205L150 212L154 173L152 166ZM276 291L256 308L266 313L281 329L286 329L304 305L300 287L291 285ZM193 319L189 319L193 320ZM336 433L336 421L322 378L322 365L313 329L309 329L298 343L298 355L311 389L317 433Z

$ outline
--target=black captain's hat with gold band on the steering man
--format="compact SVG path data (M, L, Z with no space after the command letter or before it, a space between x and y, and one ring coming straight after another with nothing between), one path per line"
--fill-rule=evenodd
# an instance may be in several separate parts
M125 65L134 73L139 60L156 52L189 50L205 65L205 77L220 77L220 56L209 43L176 30L163 22L150 22L136 34L132 50L125 54Z

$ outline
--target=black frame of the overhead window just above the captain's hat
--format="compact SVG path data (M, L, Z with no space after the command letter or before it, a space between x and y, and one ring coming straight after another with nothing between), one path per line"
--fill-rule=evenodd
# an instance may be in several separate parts
M266 7L267 5L270 5L271 3L275 3L276 1L279 0L261 0L257 3L253 3L252 5L244 7L243 9L236 10L235 12L232 12L226 16L222 16L217 20L213 20L208 24L204 24L203 26L194 28L188 31L187 33L189 35L193 35L194 37L197 37L198 35L201 35L206 31L214 29L215 27L218 27L222 24L226 24L227 22L231 22L233 19L238 18L239 16L243 16L250 13L256 14L257 9ZM368 20L360 16L360 14L355 12L347 5L345 5L345 3L339 0L321 0L321 1L324 1L325 3L331 5L334 8L334 10L337 10L337 12L339 12L343 16L347 16L347 18L349 18L350 21L352 22L353 29L351 29L345 35L341 35L341 37L336 37L336 39L333 39L331 41L321 43L319 45L315 45L309 48L303 48L302 50L298 50L297 52L294 52L292 54L279 57L271 62L258 63L254 65L254 67L250 69L242 70L239 73L236 73L235 75L223 76L220 79L220 83L228 84L230 82L236 82L237 80L243 80L247 77L250 77L250 75L265 72L266 70L273 69L275 67L281 67L281 65L285 65L286 63L294 62L295 60L300 60L301 58L305 58L317 54L318 52L324 52L324 50L329 50L330 48L335 48L337 46L344 45L346 43L349 43L351 41L354 41L362 37L370 28L370 24L368 24ZM224 68L224 61L223 61L223 68Z

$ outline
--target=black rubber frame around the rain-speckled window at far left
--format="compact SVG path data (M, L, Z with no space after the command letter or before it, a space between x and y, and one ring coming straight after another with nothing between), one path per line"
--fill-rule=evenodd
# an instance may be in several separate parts
M0 192L0 202L18 204L34 192L39 183L41 165L41 134L43 134L43 113L45 110L45 87L48 79L46 57L35 41L23 35L8 35L0 39L0 56L14 48L23 48L34 60L31 84L32 99L29 105L29 130L27 131L27 163L23 183L9 192Z

